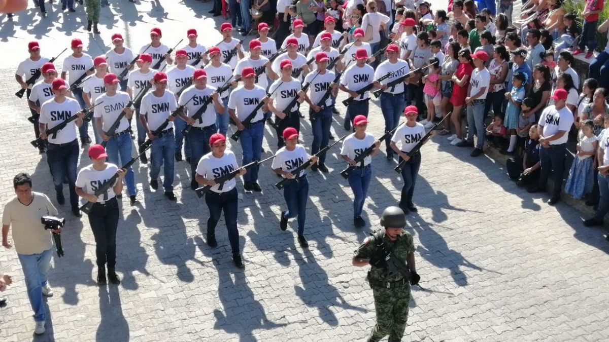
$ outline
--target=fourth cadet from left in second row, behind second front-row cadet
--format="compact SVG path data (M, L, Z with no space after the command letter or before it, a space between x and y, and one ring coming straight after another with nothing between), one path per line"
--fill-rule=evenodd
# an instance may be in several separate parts
M178 105L186 104L186 114L179 113L181 119L186 124L191 125L188 132L188 141L191 156L191 189L197 189L199 183L195 179L197 164L203 155L209 153L209 138L216 133L216 112L224 113L224 107L220 102L220 96L216 92L216 87L207 85L207 73L203 69L197 69L192 75L194 85L190 86L182 92ZM194 97L194 99L192 99ZM199 110L203 110L202 106L211 97L213 103L206 106L205 111L201 114L200 119L192 119L192 116ZM192 99L190 102L188 100Z

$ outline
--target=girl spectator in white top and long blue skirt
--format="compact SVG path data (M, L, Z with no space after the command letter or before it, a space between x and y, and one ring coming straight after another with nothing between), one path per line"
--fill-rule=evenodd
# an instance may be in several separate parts
M577 158L571 164L569 178L565 184L565 192L573 198L580 200L584 195L590 194L594 185L594 162L598 139L594 136L594 122L584 120L580 128L579 142L577 143Z

